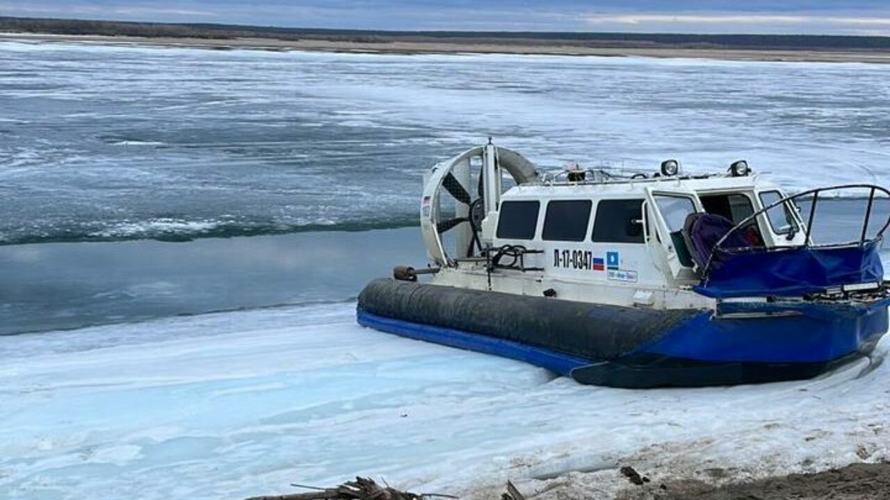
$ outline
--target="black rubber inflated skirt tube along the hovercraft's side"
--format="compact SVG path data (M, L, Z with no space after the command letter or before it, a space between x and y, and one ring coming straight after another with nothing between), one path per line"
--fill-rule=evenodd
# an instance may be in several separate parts
M699 310L651 310L376 279L360 312L519 343L589 363L637 351Z

